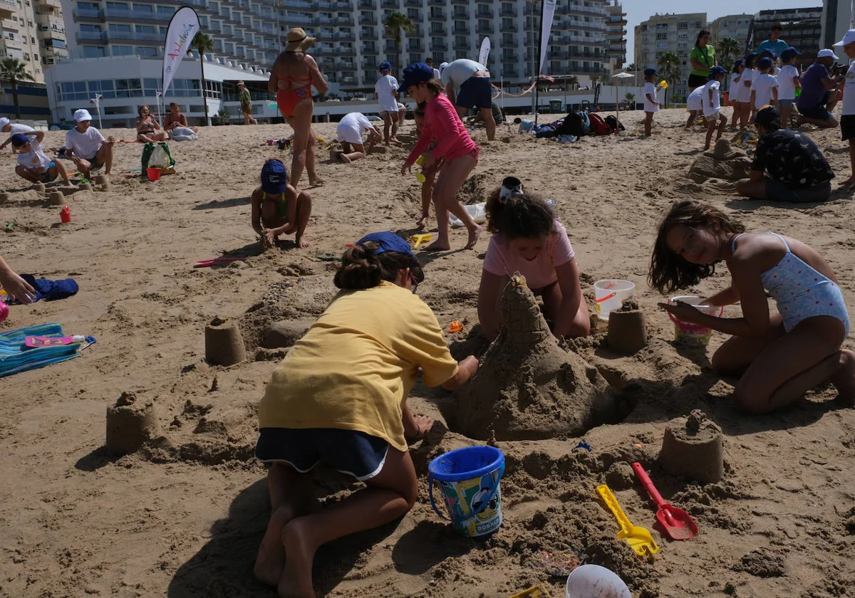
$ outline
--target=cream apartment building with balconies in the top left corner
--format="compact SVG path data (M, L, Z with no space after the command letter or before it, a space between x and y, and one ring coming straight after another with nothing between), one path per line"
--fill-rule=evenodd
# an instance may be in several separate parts
M66 56L59 0L0 0L0 57L17 58L37 83L57 56Z

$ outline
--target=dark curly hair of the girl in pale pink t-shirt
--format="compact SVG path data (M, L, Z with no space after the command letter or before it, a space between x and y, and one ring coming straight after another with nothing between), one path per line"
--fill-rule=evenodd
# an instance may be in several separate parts
M543 197L534 193L502 199L501 187L486 198L486 227L511 238L537 238L555 232L555 213Z

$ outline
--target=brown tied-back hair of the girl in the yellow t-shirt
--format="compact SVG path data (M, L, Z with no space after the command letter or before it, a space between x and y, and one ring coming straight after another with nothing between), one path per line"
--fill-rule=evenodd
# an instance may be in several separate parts
M379 243L366 241L347 249L341 256L341 266L335 273L333 284L345 290L370 289L383 280L394 282L398 272L406 268L410 268L417 283L425 279L425 273L415 255L400 251L375 253L379 248Z

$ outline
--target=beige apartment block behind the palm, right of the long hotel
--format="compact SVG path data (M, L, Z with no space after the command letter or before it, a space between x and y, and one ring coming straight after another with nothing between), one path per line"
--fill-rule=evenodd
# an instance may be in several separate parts
M643 70L646 67L655 67L663 53L675 53L681 60L681 75L673 85L671 93L687 97L687 83L692 71L689 52L692 51L698 33L705 27L706 13L652 16L635 26L635 63Z

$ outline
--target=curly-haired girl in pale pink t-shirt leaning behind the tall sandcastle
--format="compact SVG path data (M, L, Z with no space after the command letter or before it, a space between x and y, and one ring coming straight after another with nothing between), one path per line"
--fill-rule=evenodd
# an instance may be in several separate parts
M515 272L526 277L535 295L543 296L552 334L587 337L591 320L579 267L567 231L552 208L540 197L523 193L519 179L508 177L487 198L486 218L493 235L478 291L478 319L486 337L498 334L499 298Z

